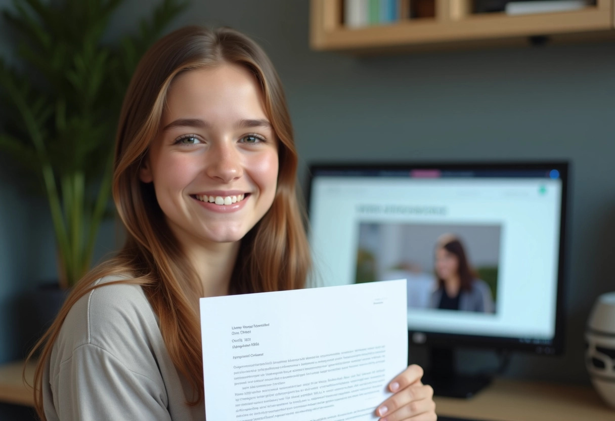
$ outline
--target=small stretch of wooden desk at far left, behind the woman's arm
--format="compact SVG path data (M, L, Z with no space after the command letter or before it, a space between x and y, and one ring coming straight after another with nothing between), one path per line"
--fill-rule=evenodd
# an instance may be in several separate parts
M26 367L26 379L33 383L36 361L30 361ZM0 366L0 402L33 406L34 392L23 383L23 361Z

